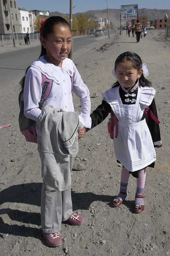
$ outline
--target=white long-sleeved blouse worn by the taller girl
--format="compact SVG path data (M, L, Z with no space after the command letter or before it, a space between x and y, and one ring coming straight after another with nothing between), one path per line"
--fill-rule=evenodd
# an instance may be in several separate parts
M63 111L74 111L71 79L73 76L73 92L80 98L81 113L79 120L87 128L91 128L92 120L90 117L91 101L90 92L83 83L80 74L73 61L70 59L63 60L62 67L55 66L47 62L44 56L33 62L26 72L24 84L24 115L27 118L38 121L42 109L39 108L39 102L42 94L42 75L43 73L49 79L52 79L51 91L45 100L42 109L46 105L52 105L54 108ZM36 123L37 134L41 136L41 131Z

